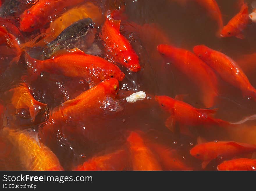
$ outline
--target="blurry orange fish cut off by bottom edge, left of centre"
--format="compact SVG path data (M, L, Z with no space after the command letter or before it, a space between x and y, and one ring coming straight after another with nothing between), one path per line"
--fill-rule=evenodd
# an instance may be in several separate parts
M127 151L118 150L103 156L93 157L77 166L75 170L125 170L128 158Z

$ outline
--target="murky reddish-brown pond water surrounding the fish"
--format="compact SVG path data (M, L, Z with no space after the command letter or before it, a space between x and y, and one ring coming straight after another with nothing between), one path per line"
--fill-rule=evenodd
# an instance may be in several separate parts
M236 0L216 0L223 14L224 25L239 12L236 6ZM13 113L10 106L10 97L3 96L10 88L17 86L24 79L27 69L22 55L17 65L11 66L1 75L1 103L7 108L2 114L2 126L13 129L27 129L39 132L40 139L47 145L58 157L65 170L71 170L75 166L94 156L108 154L119 148L127 148L127 137L131 131L140 131L143 138L148 142L159 143L167 148L175 149L178 153L178 159L184 162L188 167L194 170L201 169L201 161L193 158L189 150L197 144L197 137L204 137L208 141L240 141L256 144L256 130L253 121L241 125L234 130L198 130L195 137L187 137L179 133L172 133L165 126L165 121L169 114L154 101L155 95L167 95L175 97L178 94L187 94L185 102L196 108L204 108L198 96L197 87L185 76L172 69L172 66L163 61L156 50L160 43L173 44L179 48L185 48L193 51L193 46L205 44L206 46L219 50L235 61L246 59L247 54L256 51L256 25L251 24L246 28L245 39L217 38L217 24L207 12L196 3L188 3L186 6L180 6L171 0L137 0L137 1L118 1L102 0L92 1L99 7L102 19L98 24L98 32L104 21L104 13L107 10L113 10L119 6L125 7L124 14L127 15L122 20L120 31L129 39L131 45L139 56L142 70L133 73L124 67L120 69L126 74L123 81L120 82L120 91L117 99L120 101L118 109L102 108L97 114L88 113L85 121L68 121L65 124L59 123L56 132L61 131L65 134L65 140L61 137L43 137L40 132L44 128L44 121L47 117L39 115L35 122L29 118L24 118L17 113ZM252 11L251 3L253 0L246 1L249 10ZM15 15L16 17L16 15ZM58 17L56 18L58 19ZM19 21L16 19L18 26ZM49 26L45 26L47 28ZM33 33L22 33L24 41L27 42L38 34L39 30ZM24 43L24 42L22 42ZM95 43L102 48L103 53L99 56L105 57L102 42L96 35ZM33 57L42 59L41 48L26 48ZM93 52L95 53L95 52ZM1 54L0 53L0 57ZM96 54L96 53L95 53ZM6 61L8 62L8 60ZM238 63L239 64L239 63ZM255 68L248 68L244 63L240 67L245 71L251 84L256 87ZM74 99L81 92L88 90L88 85L81 78L69 78L61 75L43 73L41 77L29 83L33 97L47 103L47 113L51 115L54 108L60 106L67 100ZM25 80L25 82L27 82ZM143 90L147 98L136 103L126 103L125 97L133 92ZM219 87L219 96L214 108L218 108L216 118L230 122L236 122L246 116L255 114L255 102L244 99L241 93L231 85L221 81ZM77 115L80 115L77 113ZM81 114L81 115L87 115ZM24 170L18 160L19 150L13 148L10 143L1 146L0 157L1 170ZM6 154L6 148L10 150ZM159 160L159 156L156 159ZM124 170L132 170L131 162L128 158L127 166ZM160 160L159 160L160 162ZM160 162L161 163L161 162ZM207 170L216 170L216 161L212 161ZM172 170L172 169L169 169Z

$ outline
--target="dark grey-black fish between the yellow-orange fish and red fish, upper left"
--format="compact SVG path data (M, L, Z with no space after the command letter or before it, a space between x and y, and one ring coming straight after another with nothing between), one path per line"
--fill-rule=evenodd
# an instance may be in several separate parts
M86 50L93 43L96 32L94 23L90 18L81 19L63 30L54 41L48 43L45 55L50 58L61 49L79 48Z

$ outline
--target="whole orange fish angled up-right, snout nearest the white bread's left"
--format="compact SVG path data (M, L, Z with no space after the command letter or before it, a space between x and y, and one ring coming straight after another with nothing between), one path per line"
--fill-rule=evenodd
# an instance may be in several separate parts
M60 123L69 121L82 121L95 115L95 108L101 108L101 104L107 97L115 98L119 89L118 80L106 79L93 88L81 93L75 99L64 102L61 107L56 108L50 115L46 125L40 132L42 139L55 135L53 132L60 128Z

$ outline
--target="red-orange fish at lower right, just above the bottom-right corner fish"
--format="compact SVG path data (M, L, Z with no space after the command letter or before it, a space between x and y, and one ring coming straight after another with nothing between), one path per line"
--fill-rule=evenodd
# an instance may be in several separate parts
M195 145L190 150L190 154L203 161L202 168L204 169L211 160L217 157L230 159L240 154L249 154L256 151L256 145L247 143L237 143L234 141L214 141Z

